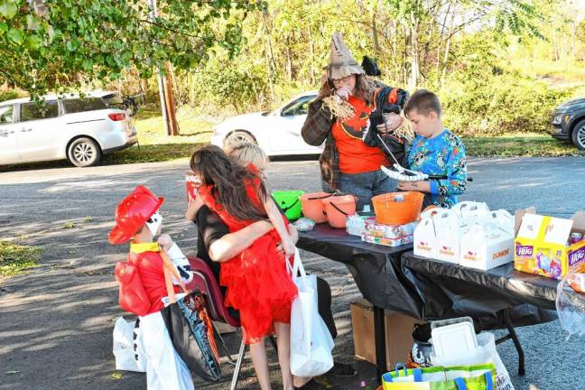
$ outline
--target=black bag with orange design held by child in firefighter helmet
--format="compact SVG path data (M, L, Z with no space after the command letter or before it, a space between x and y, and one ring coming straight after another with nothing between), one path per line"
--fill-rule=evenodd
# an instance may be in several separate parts
M191 292L164 308L161 315L172 345L191 372L215 382L221 377L218 348L203 299L200 292Z

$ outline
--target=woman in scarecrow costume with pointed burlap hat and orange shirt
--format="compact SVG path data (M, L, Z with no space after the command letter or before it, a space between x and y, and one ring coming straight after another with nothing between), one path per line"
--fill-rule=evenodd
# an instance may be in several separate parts
M382 117L375 129L393 135L402 125L397 115L408 94L400 88L369 79L357 64L339 32L331 35L330 63L319 96L309 105L302 126L307 144L325 148L320 156L323 190L340 190L357 196L357 209L370 203L372 196L395 190L396 181L380 170L391 166L387 152L376 142L365 143L370 115ZM371 138L371 137L370 137ZM377 139L377 137L376 137ZM404 159L404 139L387 141L398 159Z

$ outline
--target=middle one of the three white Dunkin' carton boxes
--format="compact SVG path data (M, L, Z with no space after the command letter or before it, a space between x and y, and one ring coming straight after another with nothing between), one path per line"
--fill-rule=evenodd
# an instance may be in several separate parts
M435 258L459 264L461 238L468 228L462 225L457 212L450 209L432 217L432 220L436 232Z

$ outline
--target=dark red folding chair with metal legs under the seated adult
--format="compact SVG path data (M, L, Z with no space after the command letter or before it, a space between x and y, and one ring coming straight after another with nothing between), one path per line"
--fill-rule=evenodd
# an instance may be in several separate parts
M211 271L211 268L209 268L209 265L199 257L188 256L187 258L189 259L191 270L193 271L193 281L186 286L187 289L190 291L200 290L201 293L206 295L207 299L205 301L208 306L206 309L209 312L211 320L227 323L234 328L240 328L239 319L234 318L234 316L228 311L228 308L224 306L223 293L221 292L219 283ZM217 334L222 348L228 355L229 363L235 365L234 375L232 376L231 385L229 387L230 390L235 390L240 369L242 367L242 360L246 353L246 343L244 342L244 337L242 335L242 342L237 353L237 360L234 362L223 338L219 332L217 332Z

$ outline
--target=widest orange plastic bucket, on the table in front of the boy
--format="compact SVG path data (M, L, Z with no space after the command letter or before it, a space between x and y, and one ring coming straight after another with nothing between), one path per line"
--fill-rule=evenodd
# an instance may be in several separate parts
M372 198L376 221L384 225L404 225L421 216L424 194L416 191L390 192Z

